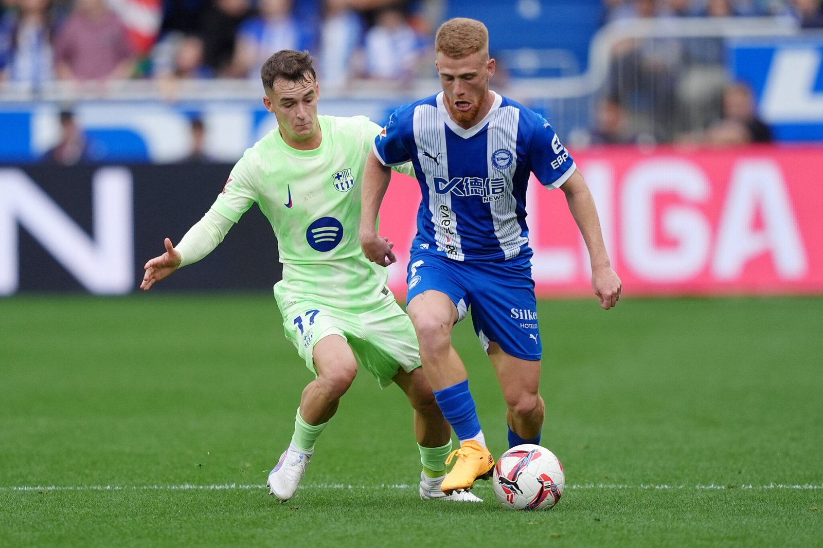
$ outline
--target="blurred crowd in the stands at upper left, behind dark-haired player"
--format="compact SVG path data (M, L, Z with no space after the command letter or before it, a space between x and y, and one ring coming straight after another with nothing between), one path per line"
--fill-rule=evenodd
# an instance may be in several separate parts
M0 0L0 80L258 78L309 49L328 87L402 86L430 45L423 0Z

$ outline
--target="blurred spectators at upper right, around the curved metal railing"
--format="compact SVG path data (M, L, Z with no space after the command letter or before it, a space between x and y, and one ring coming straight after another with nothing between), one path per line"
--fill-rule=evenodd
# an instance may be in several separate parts
M616 26L644 19L666 28L679 17L783 16L804 29L823 28L821 0L606 0L605 7L605 22ZM611 52L588 141L769 142L751 90L729 79L726 54L721 37L621 41Z

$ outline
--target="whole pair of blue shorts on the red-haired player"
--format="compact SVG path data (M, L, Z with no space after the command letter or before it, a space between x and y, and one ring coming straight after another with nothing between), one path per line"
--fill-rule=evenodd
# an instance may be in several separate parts
M496 342L516 358L540 360L542 341L528 257L461 262L416 251L409 260L406 281L407 303L425 290L436 290L449 295L458 309L458 322L470 309L474 332L484 350L488 351L489 342Z

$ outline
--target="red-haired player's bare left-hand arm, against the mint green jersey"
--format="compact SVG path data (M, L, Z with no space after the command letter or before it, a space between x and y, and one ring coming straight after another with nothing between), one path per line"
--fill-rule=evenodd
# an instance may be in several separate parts
M391 263L398 261L392 251L393 242L377 235L377 215L391 179L392 170L380 163L377 156L374 156L374 151L370 152L369 159L365 160L363 171L360 247L363 248L363 254L367 259L376 262L381 267L388 267Z

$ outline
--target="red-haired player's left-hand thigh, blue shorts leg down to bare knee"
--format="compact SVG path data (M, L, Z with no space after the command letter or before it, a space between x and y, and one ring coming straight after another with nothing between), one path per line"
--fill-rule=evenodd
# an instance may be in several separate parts
M409 260L407 310L415 326L444 322L449 325L466 316L469 300L459 264L430 253L415 253Z

